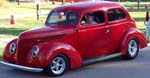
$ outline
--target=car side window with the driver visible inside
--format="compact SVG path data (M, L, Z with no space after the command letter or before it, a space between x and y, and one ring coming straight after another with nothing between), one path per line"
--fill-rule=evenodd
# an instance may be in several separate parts
M82 17L81 25L100 24L104 22L104 12L93 12L87 13Z

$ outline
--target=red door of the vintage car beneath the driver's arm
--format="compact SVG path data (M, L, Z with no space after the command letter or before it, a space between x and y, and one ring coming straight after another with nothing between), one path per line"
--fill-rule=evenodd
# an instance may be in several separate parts
M93 19L95 19L97 24L81 25L79 28L78 50L83 58L96 57L108 53L107 46L110 43L108 42L109 38L106 35L105 14L102 11L94 12L93 14L95 16ZM99 17L99 20L96 17ZM82 20L84 19L85 17L83 16ZM81 21L81 23L82 22L83 21Z

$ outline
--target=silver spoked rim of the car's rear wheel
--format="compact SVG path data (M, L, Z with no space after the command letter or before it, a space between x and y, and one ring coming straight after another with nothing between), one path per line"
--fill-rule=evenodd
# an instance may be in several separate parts
M138 50L138 44L135 40L131 40L128 44L128 52L131 56L135 56Z

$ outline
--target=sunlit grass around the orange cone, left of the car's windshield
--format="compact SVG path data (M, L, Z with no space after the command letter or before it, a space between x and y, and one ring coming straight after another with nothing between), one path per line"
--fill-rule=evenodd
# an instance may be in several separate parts
M42 16L40 21L36 20L36 16L20 18L16 20L15 25L10 25L9 19L0 20L3 23L0 25L0 34L18 36L22 31L44 25L45 19L46 16Z

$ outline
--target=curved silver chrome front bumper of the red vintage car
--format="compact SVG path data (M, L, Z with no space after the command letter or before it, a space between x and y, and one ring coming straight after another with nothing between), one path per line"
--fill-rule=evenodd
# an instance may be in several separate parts
M24 71L30 71L30 72L42 72L43 71L43 68L33 68L33 67L21 66L21 65L7 63L7 62L4 62L4 61L0 61L0 63L3 64L3 65L6 65L6 66L10 66L10 67L20 69L20 70L24 70Z

